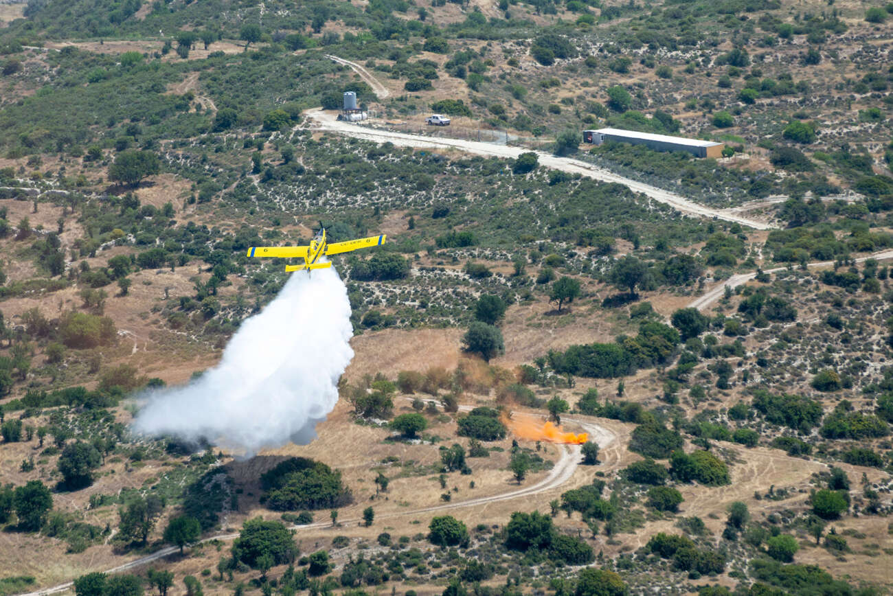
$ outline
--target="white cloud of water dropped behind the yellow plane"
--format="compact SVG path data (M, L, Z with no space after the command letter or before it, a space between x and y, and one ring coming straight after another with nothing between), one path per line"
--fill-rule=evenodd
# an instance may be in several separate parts
M338 401L354 357L347 290L334 268L292 275L239 327L217 367L188 385L147 395L134 430L204 438L245 456L306 444Z

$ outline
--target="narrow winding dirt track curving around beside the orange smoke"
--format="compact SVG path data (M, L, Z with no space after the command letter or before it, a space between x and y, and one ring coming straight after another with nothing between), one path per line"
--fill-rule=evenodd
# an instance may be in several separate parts
M462 410L471 410L471 407L463 407ZM605 447L610 446L617 440L617 435L615 435L611 430L608 430L604 426L598 426L597 424L594 424L592 422L579 420L576 418L565 417L565 419L576 422L577 424L582 426L583 429L586 430L593 439L595 439L595 442L598 443L598 447L600 449L604 449ZM580 445L563 445L561 456L559 457L558 461L555 462L555 465L549 471L548 476L540 480L537 484L531 484L530 486L524 486L507 493L496 494L489 497L480 497L478 499L446 503L443 505L433 505L431 507L425 507L422 509L413 509L412 511L396 511L394 513L382 514L377 517L380 517L381 519L390 519L394 517L405 517L410 515L418 515L420 513L429 513L431 511L442 511L445 509L463 509L466 507L485 505L487 503L493 503L497 501L508 501L510 499L517 499L519 497L526 497L533 494L544 493L551 489L557 488L570 480L573 476L573 473L577 470L579 464ZM358 521L361 521L360 517L345 519L342 520L341 523L349 524ZM330 523L318 522L315 524L308 524L306 526L291 526L291 529L300 532L301 530L322 527L330 527ZM200 542L212 542L214 540L230 541L235 540L236 538L238 538L238 532L232 534L217 534L215 536L209 536L208 538L205 538ZM168 557L176 552L179 552L179 547L168 546L161 550L156 550L151 555L146 555L145 557L134 559L132 561L129 561L129 563L124 563L123 565L113 567L112 569L106 569L104 573L121 573L122 571L127 571L136 567L143 567L144 565L152 563L153 561L156 561L158 559L164 559L165 557ZM74 582L67 582L65 584L56 585L52 588L46 588L44 590L38 590L36 592L21 594L20 596L46 596L46 594L65 592L71 589L73 585Z

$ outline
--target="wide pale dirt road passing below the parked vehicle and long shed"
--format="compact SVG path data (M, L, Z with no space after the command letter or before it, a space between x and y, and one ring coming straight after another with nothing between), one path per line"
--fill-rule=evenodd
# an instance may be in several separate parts
M351 124L348 122L336 120L334 115L322 112L322 110L319 108L310 110L309 112L306 112L306 114L308 118L312 120L314 128L327 130L330 132L337 132L339 134L346 135L347 137L363 138L369 141L375 141L376 143L384 143L389 141L394 145L407 147L458 149L459 151L463 151L466 153L476 153L478 155L488 155L492 157L503 157L509 159L516 159L521 153L530 151L529 149L525 149L522 147L492 145L490 143L481 143L480 141L466 141L463 139L455 138L421 137L420 135L410 135L401 132L394 132L392 130L369 128L366 126L360 126L357 124ZM750 228L755 229L776 228L776 226L772 226L772 224L768 224L757 219L750 219L742 215L732 213L728 210L705 207L704 205L689 201L689 199L663 190L662 188L657 188L656 186L638 182L638 180L633 180L631 178L624 178L618 174L614 174L611 171L598 168L597 166L591 163L587 163L586 161L575 160L569 157L556 157L555 155L544 152L533 153L537 153L539 163L546 166L547 168L563 170L572 174L580 174L581 176L595 178L602 182L616 182L624 186L629 186L630 190L634 192L647 195L647 197L657 201L658 203L670 205L672 208L688 215L712 219L723 219L725 221L739 223L742 226L749 226Z

